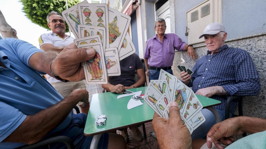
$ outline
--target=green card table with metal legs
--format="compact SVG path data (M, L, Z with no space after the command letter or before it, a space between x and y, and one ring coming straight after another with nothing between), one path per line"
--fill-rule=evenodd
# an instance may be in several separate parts
M146 88L147 87L140 87L129 90L132 92L142 91L141 94L144 94ZM94 135L90 147L91 149L97 148L101 134L104 132L111 132L152 121L154 110L146 104L144 100L141 100L141 102L144 103L143 105L128 110L127 104L132 95L117 99L118 95L120 94L111 92L92 95L92 101L84 129L84 135ZM196 96L203 105L203 108L208 108L215 115L216 123L220 122L220 116L212 106L221 104L221 101L200 95ZM103 126L96 126L97 116L101 114L106 115L106 124Z

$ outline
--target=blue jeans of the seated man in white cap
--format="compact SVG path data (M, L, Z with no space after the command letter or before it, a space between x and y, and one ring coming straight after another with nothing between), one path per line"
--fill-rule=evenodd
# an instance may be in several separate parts
M220 117L221 121L225 120L225 110L215 109ZM196 128L193 133L191 134L192 140L196 138L203 138L206 139L206 135L210 128L216 123L214 114L208 109L200 110L205 117L205 122L202 123L198 128ZM231 118L233 113L229 112L229 117Z

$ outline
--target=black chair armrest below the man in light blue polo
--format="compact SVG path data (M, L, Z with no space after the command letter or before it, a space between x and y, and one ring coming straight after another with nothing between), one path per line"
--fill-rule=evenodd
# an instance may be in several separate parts
M72 140L69 137L63 136L63 135L51 137L51 138L42 140L40 142L37 142L35 144L24 145L24 146L18 147L16 149L34 149L34 148L40 148L43 145L48 145L48 144L57 143L57 142L61 142L61 143L66 144L66 147L68 149L75 149Z

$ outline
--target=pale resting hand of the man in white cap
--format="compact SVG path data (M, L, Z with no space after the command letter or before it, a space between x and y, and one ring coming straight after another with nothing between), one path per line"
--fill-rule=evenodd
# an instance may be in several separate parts
M228 95L228 93L225 91L225 89L222 86L201 88L195 94L205 97L212 97L213 95Z

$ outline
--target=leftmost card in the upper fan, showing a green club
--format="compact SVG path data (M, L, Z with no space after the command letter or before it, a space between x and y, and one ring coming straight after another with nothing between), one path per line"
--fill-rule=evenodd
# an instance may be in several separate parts
M88 3L86 0L82 1L80 3ZM76 39L78 38L78 25L80 24L79 20L79 11L78 11L78 5L74 5L73 7L70 7L62 12L62 16L64 20L66 21L66 24L68 25L71 32L74 34Z

